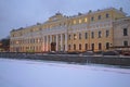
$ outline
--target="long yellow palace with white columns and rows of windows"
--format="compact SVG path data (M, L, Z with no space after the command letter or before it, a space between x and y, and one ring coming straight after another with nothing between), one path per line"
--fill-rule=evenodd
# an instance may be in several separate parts
M118 23L127 17L122 9L115 8L78 13L66 16L57 12L48 21L37 25L21 27L11 32L11 52L49 52L49 51L106 51L114 49L121 40L130 37L130 25L127 26L128 36L119 39ZM126 24L126 23L122 23ZM120 24L120 27L122 25ZM122 29L125 30L126 27ZM122 33L122 30L119 30ZM116 42L115 42L116 41ZM130 38L123 40L130 44Z

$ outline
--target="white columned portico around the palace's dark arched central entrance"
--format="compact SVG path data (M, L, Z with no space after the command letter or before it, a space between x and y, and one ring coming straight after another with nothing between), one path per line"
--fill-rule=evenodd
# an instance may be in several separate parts
M67 51L67 34L46 35L42 41L42 51ZM52 50L52 42L55 45Z

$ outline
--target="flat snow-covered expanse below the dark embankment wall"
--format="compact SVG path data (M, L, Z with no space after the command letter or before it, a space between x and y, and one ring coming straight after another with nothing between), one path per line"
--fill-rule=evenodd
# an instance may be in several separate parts
M130 69L0 59L0 87L130 87Z

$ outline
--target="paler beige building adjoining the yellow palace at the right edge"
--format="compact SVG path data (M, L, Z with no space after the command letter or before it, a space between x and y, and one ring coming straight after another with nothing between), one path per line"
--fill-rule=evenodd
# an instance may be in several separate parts
M117 50L130 50L130 17L125 17L114 23L114 48ZM123 29L127 29L126 34ZM128 41L128 46L125 46Z

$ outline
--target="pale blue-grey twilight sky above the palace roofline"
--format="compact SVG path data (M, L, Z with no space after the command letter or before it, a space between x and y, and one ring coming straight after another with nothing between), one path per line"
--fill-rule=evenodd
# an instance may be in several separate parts
M58 11L75 15L110 7L123 8L130 15L130 0L0 0L0 39L13 28L43 23Z

